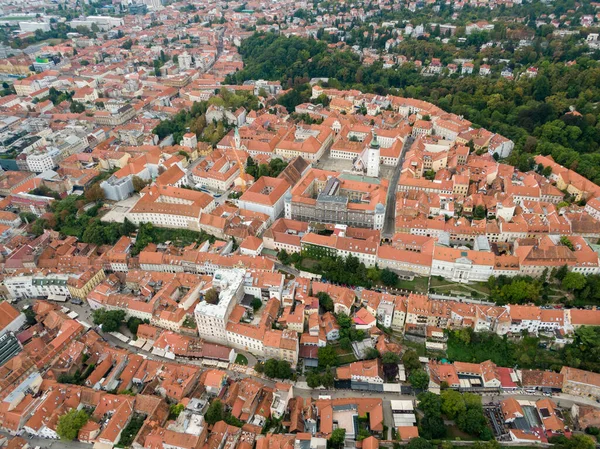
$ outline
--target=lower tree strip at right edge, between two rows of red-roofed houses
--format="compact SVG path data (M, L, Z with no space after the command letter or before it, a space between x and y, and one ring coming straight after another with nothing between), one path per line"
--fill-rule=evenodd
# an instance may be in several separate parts
M471 328L457 329L449 332L447 355L460 362L491 360L498 366L553 371L566 365L600 372L600 329L582 326L575 331L573 343L558 350L546 349L540 337L509 339L495 333L475 333Z

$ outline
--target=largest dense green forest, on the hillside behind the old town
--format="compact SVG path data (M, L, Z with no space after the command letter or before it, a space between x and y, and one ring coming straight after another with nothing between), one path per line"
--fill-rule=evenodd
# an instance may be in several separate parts
M569 46L553 39L552 30L540 31L546 34L539 36L538 46L514 51L516 63L537 64L538 75L533 78L424 77L411 63L385 69L381 62L363 66L357 54L329 49L323 41L255 33L239 49L244 69L229 75L226 82L280 80L291 90L279 102L292 111L310 100L308 82L315 77L328 78L325 87L430 101L513 140L515 151L508 162L520 170L532 169L532 156L541 153L600 183L600 64L594 55L586 54L585 46ZM477 44L474 40L478 38L484 43L489 36L469 37L472 44ZM411 52L420 52L427 45L432 44L417 42ZM424 61L435 57L424 51L415 56ZM450 56L455 58L456 53ZM579 114L572 114L571 108Z

